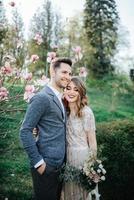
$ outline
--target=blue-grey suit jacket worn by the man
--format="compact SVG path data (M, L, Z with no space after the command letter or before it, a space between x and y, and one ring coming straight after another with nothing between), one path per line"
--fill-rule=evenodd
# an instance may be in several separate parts
M37 127L38 141L33 137ZM54 167L60 166L65 158L66 119L59 99L45 86L30 101L20 129L20 139L31 166L41 159Z

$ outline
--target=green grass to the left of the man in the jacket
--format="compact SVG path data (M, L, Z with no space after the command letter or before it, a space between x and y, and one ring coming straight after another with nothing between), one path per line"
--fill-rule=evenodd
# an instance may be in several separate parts
M21 87L14 86L12 90L11 99L0 105L0 199L30 200L30 168L19 141L26 103L23 101ZM22 96L14 98L20 94Z

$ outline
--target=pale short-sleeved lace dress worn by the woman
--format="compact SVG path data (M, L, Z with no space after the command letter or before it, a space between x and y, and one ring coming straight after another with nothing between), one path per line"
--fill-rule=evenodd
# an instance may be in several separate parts
M83 166L90 151L87 131L88 134L95 134L95 120L92 110L85 106L82 118L69 117L67 120L67 162L77 168ZM64 200L91 199L90 195L75 183L65 183L63 188Z

